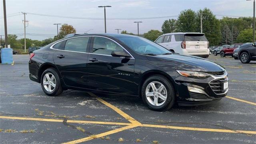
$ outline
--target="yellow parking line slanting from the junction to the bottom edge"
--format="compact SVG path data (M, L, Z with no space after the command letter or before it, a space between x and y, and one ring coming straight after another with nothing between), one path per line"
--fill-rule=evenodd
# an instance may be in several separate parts
M130 126L125 126L125 127L122 127L122 128L118 128L118 129L115 129L115 130L110 130L108 132L103 132L101 134L97 134L97 135L94 135L94 136L88 136L86 138L81 138L81 139L78 139L78 140L73 140L73 141L70 141L70 142L65 142L63 144L77 144L77 143L80 143L80 142L86 142L88 140L92 140L92 139L95 139L95 138L100 138L102 136L107 136L107 135L110 135L110 134L114 134L114 133L117 133L117 132L121 132L123 130L127 130L127 129L130 129L130 128L135 128L137 127L138 125L136 124L132 124Z

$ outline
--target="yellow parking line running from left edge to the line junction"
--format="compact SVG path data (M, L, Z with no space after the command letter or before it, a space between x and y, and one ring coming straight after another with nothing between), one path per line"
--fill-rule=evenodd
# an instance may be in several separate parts
M48 119L48 118L25 118L25 117L12 117L12 116L0 116L3 119L12 119L12 120L34 120L34 121L44 121L44 122L63 122L60 119ZM122 122L97 122L97 121L86 121L86 120L67 120L70 123L83 123L83 124L110 124L110 125L131 125L130 123Z

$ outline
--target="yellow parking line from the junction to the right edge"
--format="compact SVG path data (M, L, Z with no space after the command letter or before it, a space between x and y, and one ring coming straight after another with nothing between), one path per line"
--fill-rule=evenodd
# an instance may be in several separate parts
M214 128L192 128L192 127L180 127L180 126L164 126L164 125L154 125L154 124L142 124L144 127L153 128L170 128L176 130L195 130L195 131L205 131L205 132L229 132L229 133L244 133L244 134L256 134L256 131L246 131L246 130L225 130L225 129L214 129Z

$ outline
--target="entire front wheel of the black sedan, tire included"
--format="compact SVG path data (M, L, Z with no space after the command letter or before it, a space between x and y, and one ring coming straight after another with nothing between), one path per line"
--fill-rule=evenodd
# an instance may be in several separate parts
M142 85L141 93L142 100L152 110L168 110L175 102L174 88L164 76L154 75L148 78Z

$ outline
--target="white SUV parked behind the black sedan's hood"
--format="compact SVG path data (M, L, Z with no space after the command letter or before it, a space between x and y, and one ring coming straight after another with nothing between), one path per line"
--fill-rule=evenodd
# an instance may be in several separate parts
M204 34L198 32L175 32L159 36L156 43L172 52L183 55L208 58L209 42Z

